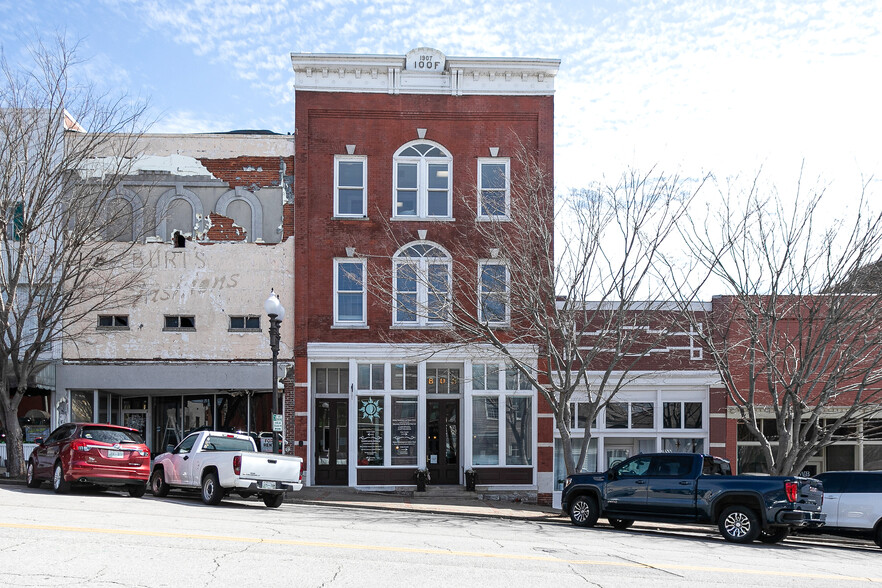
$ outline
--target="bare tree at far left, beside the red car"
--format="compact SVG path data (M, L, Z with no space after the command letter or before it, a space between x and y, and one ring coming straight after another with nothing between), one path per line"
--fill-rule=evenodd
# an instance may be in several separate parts
M0 61L0 421L13 476L24 473L18 408L34 376L82 335L83 317L124 306L140 279L117 271L132 243L112 232L136 212L115 189L145 106L77 83L76 46L61 37L30 56Z

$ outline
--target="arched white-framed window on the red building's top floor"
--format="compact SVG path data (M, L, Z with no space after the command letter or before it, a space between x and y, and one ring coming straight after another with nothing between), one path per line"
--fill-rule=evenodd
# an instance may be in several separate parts
M414 141L394 157L395 218L449 218L453 158L441 145Z

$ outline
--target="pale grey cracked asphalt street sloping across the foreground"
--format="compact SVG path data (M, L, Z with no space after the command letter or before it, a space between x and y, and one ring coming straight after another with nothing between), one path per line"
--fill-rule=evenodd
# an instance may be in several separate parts
M869 542L0 487L0 586L855 586Z

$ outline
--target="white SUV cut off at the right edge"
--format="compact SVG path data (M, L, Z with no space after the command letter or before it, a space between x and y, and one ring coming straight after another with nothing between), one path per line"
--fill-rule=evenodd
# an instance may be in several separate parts
M871 536L882 547L882 471L826 472L822 533Z

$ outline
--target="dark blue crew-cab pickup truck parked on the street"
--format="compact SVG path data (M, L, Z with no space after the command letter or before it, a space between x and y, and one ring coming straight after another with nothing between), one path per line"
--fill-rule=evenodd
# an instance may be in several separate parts
M574 525L601 516L617 529L634 521L716 524L728 541L783 541L794 527L824 524L821 482L794 476L733 476L725 459L644 453L603 473L566 479L561 507Z

